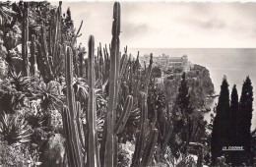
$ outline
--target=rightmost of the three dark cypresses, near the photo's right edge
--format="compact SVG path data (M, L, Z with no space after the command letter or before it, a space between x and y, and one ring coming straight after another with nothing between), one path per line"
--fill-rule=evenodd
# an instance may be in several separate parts
M253 87L249 77L242 85L242 93L239 103L239 143L243 146L242 162L250 165L252 163L251 152L251 120L253 105Z

